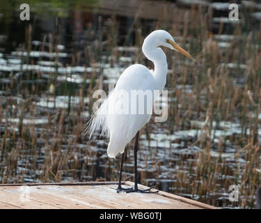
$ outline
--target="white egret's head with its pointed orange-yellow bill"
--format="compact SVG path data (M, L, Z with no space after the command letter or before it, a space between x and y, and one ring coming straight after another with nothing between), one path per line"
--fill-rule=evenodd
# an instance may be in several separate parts
M161 29L155 30L152 33L150 33L150 35L147 36L144 41L146 41L146 39L150 41L150 45L152 47L168 47L170 49L174 49L177 52L182 53L183 55L189 57L189 59L196 61L187 51L185 51L184 49L182 49L182 47L175 43L175 40L167 31Z

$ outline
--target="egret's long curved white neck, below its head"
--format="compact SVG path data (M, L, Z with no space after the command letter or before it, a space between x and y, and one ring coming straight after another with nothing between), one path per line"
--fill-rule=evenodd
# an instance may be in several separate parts
M154 63L153 77L155 79L155 90L163 90L166 85L168 63L166 54L157 46L153 46L150 41L144 41L142 46L143 54Z

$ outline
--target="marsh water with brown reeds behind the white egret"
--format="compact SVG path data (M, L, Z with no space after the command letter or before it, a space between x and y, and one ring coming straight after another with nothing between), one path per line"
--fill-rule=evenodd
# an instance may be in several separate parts
M1 3L0 182L118 180L120 155L109 159L108 140L84 134L97 100L93 92L109 93L109 84L132 63L153 68L142 41L150 31L166 29L200 62L164 49L168 98L161 106L168 105L168 120L157 123L153 116L141 131L139 180L214 206L253 208L260 183L260 68L252 77L251 61L240 54L251 54L244 41L260 31L260 3L240 1L247 19L240 24L221 22L226 2L144 1L152 10L161 8L157 15L136 1L113 2L39 1L31 5L31 20L23 22L19 1ZM164 10L176 12L177 20L173 14L171 21L161 20ZM186 23L193 14L210 24L193 30ZM209 56L207 47L220 58ZM260 39L251 47L259 56ZM219 69L207 70L212 66ZM126 148L125 180L134 180L132 147L133 141ZM239 201L229 200L230 185L239 187Z

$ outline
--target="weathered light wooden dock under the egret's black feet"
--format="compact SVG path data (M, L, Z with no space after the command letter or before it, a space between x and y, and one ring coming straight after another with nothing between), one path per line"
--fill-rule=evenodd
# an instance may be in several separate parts
M133 186L125 182L124 187ZM205 203L159 191L156 194L117 193L116 182L30 183L0 185L0 209L213 209ZM145 189L144 185L139 185Z

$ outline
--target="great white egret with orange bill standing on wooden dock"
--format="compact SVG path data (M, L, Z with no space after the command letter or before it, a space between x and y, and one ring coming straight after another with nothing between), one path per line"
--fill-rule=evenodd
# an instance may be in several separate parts
M152 100L145 98L145 100L142 100L143 104L141 104L140 101L132 101L132 99L136 97L136 95L133 95L132 92L153 92L164 89L166 84L168 64L166 61L166 54L164 54L161 46L174 49L195 61L195 59L193 59L188 52L175 43L175 40L170 33L164 30L153 31L145 38L142 51L143 54L154 63L154 72L150 72L148 68L141 64L134 64L129 66L124 72L122 72L122 75L120 75L113 91L111 91L109 96L106 98L106 100L104 100L100 108L87 124L87 130L90 134L90 137L96 130L102 130L102 134L106 133L107 137L109 137L109 145L107 148L109 157L115 158L118 153L122 153L120 178L117 189L118 192L150 192L150 189L140 190L138 188L137 152L139 130L141 130L141 128L143 128L143 126L148 123L148 121L150 121L152 116L151 104L153 105L156 98L154 96L152 96ZM152 95L154 94L152 93ZM127 112L115 112L114 110L116 109L117 105L120 105L121 108L122 106L127 107ZM143 113L137 112L140 107L144 108L147 106L149 109ZM121 186L121 175L125 146L134 138L135 135L135 185L134 188L123 188Z

